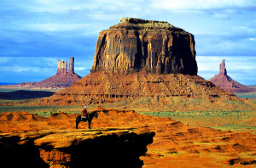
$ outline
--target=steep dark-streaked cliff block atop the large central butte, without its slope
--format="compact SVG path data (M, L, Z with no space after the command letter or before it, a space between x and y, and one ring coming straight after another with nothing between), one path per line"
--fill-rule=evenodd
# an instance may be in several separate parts
M91 72L143 70L197 75L194 36L164 21L132 18L100 32Z

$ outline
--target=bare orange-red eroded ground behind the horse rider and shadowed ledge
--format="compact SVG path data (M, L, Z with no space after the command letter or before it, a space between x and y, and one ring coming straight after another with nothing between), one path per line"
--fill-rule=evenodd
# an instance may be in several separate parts
M256 163L256 136L251 133L222 132L192 127L169 118L140 115L132 110L95 109L93 129L133 127L155 132L154 142L141 157L143 167L253 167ZM104 112L103 112L104 111ZM47 117L26 112L0 114L1 134L40 130L73 130L78 115L58 113ZM81 122L79 129L87 129Z

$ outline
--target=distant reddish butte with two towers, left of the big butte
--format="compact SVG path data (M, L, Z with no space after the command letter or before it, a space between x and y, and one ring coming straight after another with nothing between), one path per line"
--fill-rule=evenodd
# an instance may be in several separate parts
M73 85L82 77L74 72L74 58L69 58L69 69L67 71L67 61L58 60L58 69L55 76L51 76L43 81L23 82L16 85L1 86L3 88L36 88L36 89L63 89Z

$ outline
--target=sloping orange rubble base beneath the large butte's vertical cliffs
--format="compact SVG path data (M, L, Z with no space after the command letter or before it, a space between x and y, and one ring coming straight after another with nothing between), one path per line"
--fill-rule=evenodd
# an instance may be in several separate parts
M216 87L200 76L183 74L154 74L138 72L121 76L108 72L94 72L84 76L41 104L104 104L138 98L166 99L171 97L198 98L216 101L236 99L230 92Z

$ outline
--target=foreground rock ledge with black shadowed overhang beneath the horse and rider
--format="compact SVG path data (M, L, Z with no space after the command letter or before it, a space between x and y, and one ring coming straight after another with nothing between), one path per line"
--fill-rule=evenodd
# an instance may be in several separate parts
M0 134L0 167L142 167L153 137L131 128Z

